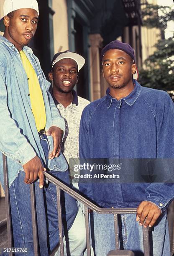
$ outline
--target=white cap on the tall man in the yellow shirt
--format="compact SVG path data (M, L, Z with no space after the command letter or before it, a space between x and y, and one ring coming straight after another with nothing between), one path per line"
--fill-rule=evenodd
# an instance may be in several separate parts
M38 11L38 2L36 0L5 0L4 2L4 16L8 15L8 13L13 12L14 10L22 9L22 8L30 8ZM0 31L5 31L4 25L4 16L0 20Z

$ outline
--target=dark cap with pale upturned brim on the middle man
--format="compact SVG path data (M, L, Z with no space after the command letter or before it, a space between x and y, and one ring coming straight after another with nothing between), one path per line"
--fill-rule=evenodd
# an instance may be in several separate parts
M74 59L74 61L76 61L77 66L78 66L78 72L79 70L83 67L84 63L85 63L85 59L72 51L62 51L62 52L58 52L57 54L54 55L52 61L51 61L51 69L53 68L53 66L61 59Z

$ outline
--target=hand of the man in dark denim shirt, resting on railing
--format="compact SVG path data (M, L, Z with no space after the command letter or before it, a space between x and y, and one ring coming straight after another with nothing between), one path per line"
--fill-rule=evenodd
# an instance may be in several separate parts
M143 201L137 208L136 220L140 221L140 225L143 225L146 219L144 227L152 227L160 215L161 210L157 205L149 201Z

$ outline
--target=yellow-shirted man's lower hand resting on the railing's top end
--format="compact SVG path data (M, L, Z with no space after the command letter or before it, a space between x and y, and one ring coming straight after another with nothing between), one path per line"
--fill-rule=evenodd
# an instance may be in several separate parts
M23 169L26 173L26 177L24 182L26 184L31 184L34 182L38 177L40 179L39 187L44 187L44 171L46 169L43 167L41 160L38 156L35 156L33 159L28 161L26 164L23 165Z

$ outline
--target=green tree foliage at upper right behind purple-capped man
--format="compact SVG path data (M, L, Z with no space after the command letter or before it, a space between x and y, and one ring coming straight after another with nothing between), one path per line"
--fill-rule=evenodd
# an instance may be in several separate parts
M165 39L164 30L173 20L174 8L153 4L142 5L143 26L159 28L161 40L156 44L156 51L145 61L146 69L140 70L139 82L145 87L160 90L174 90L174 40Z

